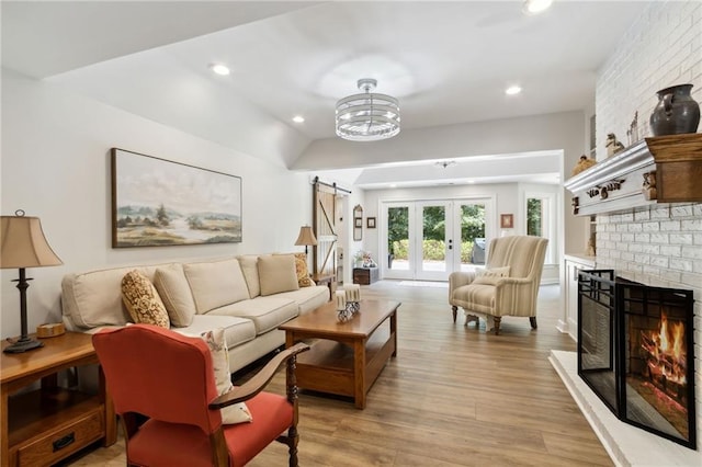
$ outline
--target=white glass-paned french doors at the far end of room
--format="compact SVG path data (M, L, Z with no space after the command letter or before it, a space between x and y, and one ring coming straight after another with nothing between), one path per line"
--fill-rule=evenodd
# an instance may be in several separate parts
M472 270L474 260L484 262L484 254L474 252L491 236L492 204L491 198L383 203L383 276L448 281L453 271Z

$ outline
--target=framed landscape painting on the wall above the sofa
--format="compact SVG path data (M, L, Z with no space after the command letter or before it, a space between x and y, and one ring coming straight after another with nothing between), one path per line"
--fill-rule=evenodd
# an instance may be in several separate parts
M241 178L112 149L112 247L241 241Z

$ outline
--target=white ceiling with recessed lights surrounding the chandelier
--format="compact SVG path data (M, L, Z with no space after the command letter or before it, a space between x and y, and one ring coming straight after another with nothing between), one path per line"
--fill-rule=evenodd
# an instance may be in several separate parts
M3 1L2 65L291 167L335 138L335 103L359 78L400 100L403 132L591 107L598 68L645 5ZM505 95L510 84L522 94Z

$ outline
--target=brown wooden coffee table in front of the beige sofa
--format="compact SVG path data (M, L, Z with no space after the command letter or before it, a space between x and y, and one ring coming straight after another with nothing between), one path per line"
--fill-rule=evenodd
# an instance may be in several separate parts
M282 324L285 346L318 339L297 356L297 386L320 392L351 396L359 409L390 356L397 356L398 301L362 300L348 322L337 320L336 303ZM384 326L385 323L389 326Z

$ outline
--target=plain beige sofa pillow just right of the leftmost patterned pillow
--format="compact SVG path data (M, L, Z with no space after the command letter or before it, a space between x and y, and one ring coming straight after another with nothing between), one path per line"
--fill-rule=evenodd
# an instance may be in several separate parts
M190 326L196 311L183 266L169 264L158 267L154 274L154 285L163 300L171 326L177 328Z

